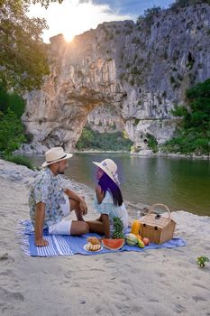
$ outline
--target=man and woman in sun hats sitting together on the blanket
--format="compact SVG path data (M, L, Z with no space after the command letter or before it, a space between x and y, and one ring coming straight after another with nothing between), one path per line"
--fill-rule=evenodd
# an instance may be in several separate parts
M123 221L124 230L128 227L128 214L123 204L122 193L117 179L117 166L111 159L105 159L97 166L95 208L100 214L96 220L85 221L87 203L75 191L64 188L62 179L68 167L68 158L72 154L65 153L62 147L53 147L45 153L44 170L32 184L29 206L34 227L36 246L48 246L43 237L43 229L48 228L49 234L79 236L87 232L112 236L113 218ZM74 210L78 220L64 219Z

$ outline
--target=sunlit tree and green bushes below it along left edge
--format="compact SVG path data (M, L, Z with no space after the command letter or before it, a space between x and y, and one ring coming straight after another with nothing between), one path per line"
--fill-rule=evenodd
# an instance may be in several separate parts
M29 139L21 121L25 103L16 91L40 88L43 76L49 74L46 45L41 40L46 21L29 18L31 4L46 9L52 2L63 0L1 0L0 1L0 154L3 158L29 166L23 157L12 153Z

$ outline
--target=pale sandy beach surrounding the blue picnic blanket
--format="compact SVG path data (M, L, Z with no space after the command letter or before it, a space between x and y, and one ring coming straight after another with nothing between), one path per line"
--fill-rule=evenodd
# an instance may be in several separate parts
M0 160L0 314L3 316L207 316L210 315L210 218L178 210L175 236L187 246L98 256L26 256L18 221L29 218L28 192L35 172ZM85 195L95 218L93 191Z

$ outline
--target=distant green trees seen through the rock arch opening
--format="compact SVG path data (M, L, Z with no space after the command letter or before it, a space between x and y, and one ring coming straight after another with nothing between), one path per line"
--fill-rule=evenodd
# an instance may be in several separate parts
M76 148L83 149L96 149L102 151L128 151L130 152L132 141L125 139L121 132L103 133L100 134L96 131L86 127L83 128L82 135L80 136Z

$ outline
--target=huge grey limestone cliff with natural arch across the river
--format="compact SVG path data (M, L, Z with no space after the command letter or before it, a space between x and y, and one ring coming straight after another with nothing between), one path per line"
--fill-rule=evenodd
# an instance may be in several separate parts
M164 143L177 125L170 110L210 78L209 41L210 5L103 23L69 43L51 38L50 76L26 96L32 144L71 151L87 120L125 129L137 148L147 148L147 133Z

